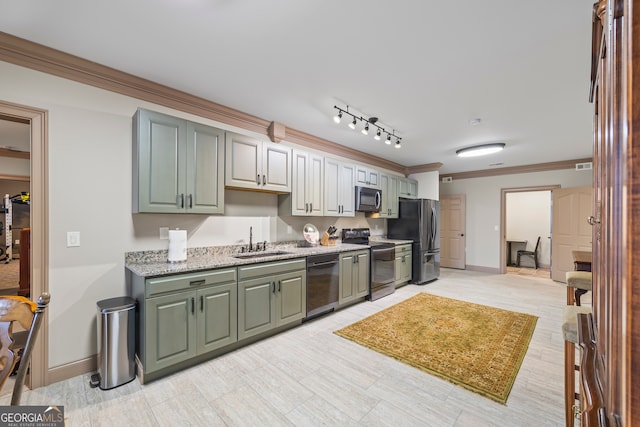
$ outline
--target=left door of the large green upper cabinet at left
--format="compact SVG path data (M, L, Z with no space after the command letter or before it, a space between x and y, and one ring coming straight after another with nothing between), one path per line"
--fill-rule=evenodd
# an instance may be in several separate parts
M187 122L147 110L133 122L133 212L183 212Z

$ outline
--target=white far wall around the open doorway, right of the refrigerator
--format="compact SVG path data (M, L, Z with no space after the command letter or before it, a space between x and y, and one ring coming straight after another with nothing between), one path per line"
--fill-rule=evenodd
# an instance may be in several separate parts
M592 171L564 169L440 183L440 194L466 195L468 266L500 268L500 195L504 188L591 185Z

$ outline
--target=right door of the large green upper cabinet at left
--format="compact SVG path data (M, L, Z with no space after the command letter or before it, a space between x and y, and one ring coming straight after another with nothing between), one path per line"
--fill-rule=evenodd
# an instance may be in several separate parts
M224 131L187 124L188 213L224 213Z

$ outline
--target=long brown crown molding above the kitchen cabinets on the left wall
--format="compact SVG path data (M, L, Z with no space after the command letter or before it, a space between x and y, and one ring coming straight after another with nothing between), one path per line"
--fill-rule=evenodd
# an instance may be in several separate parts
M405 167L400 164L309 135L286 127L282 123L252 116L213 101L4 32L0 32L0 61L215 120L256 132L272 140L282 139L284 135L286 136L286 141L319 149L331 155L344 156L358 162L400 173L404 173L405 170Z

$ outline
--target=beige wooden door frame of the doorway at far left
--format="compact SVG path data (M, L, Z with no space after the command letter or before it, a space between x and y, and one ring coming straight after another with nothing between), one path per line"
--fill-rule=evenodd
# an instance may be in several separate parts
M49 292L49 192L48 192L48 112L0 101L0 114L28 120L31 129L31 299ZM49 311L45 310L38 339L31 355L27 386L48 384Z

